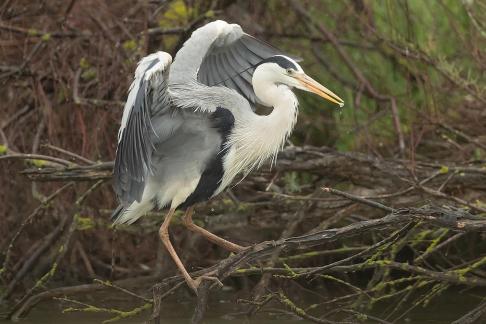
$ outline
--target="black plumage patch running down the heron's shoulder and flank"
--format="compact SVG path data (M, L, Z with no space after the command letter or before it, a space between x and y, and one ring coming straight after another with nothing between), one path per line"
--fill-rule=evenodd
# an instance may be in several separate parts
M211 198L223 178L223 158L228 153L228 148L225 145L235 124L235 117L228 109L218 107L209 118L212 126L221 134L221 146L218 154L209 161L206 169L204 169L194 192L187 197L179 208L187 208Z

